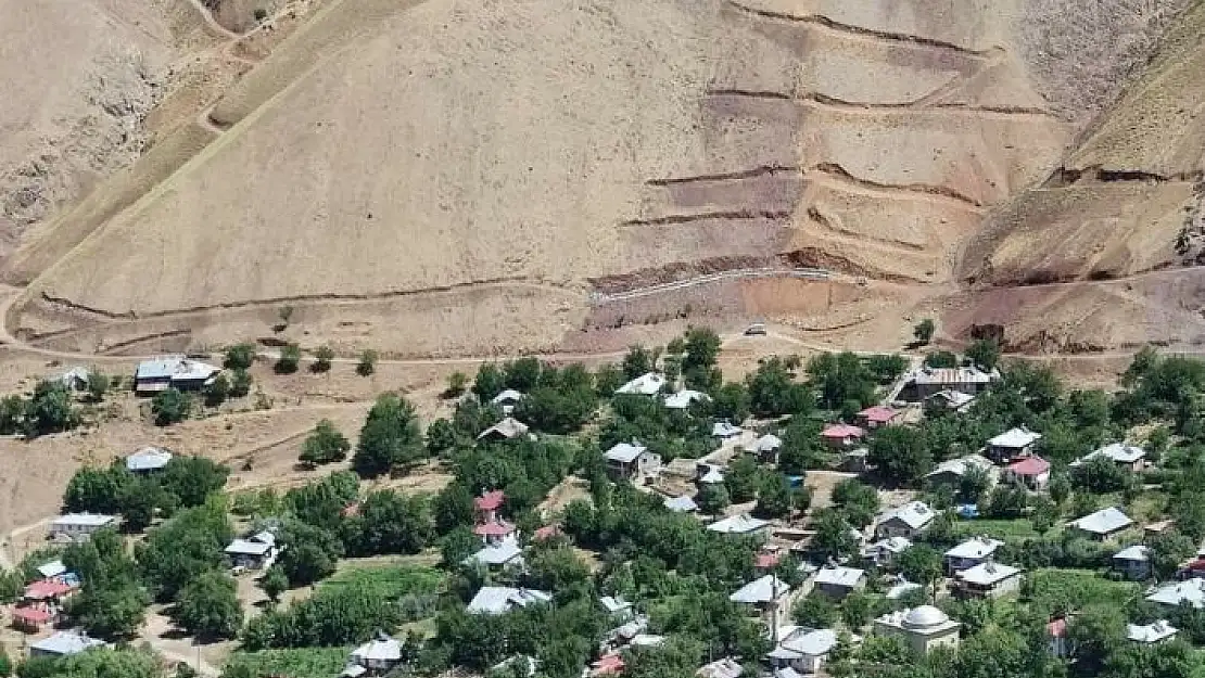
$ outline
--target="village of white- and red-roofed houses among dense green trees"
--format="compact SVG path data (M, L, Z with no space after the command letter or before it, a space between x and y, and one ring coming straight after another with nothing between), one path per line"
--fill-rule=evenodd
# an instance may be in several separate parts
M41 544L10 544L11 666L41 676L39 662L106 653L229 678L1205 666L1205 364L1144 350L1119 390L1077 390L1001 361L992 340L956 355L927 352L925 334L900 355L765 355L743 381L698 328L594 371L487 362L448 377L445 417L384 393L351 440L316 421L296 456L308 479L283 491L131 449L75 473ZM124 388L170 428L270 359L157 356ZM48 376L25 417L42 396L96 397L100 378ZM433 468L446 481L430 490L374 484Z

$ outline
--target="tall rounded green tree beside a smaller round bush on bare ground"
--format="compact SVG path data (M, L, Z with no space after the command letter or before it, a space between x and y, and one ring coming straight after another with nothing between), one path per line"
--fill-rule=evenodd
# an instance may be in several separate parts
M393 394L377 397L352 458L355 472L374 478L425 453L415 407Z

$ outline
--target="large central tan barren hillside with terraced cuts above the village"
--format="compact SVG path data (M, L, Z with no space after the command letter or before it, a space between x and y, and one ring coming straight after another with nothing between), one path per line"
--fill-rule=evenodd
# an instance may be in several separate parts
M306 343L425 355L900 314L1048 183L1185 1L1080 5L329 0L237 41L263 60L28 238L8 324L112 352L257 336L288 306Z

